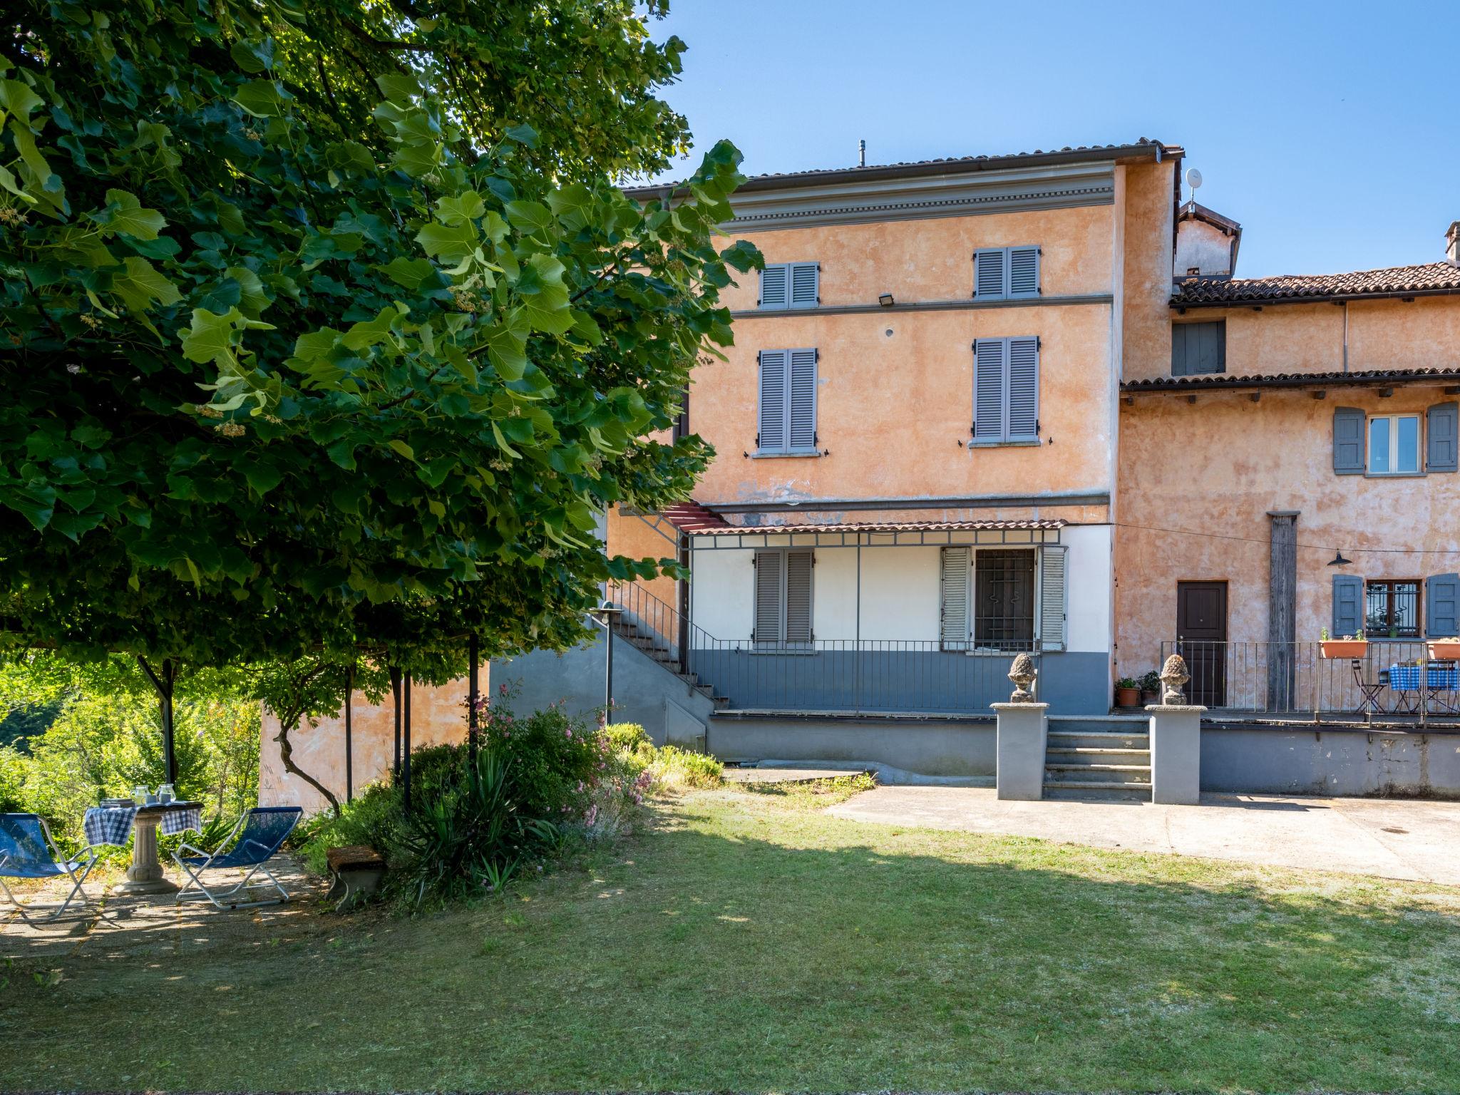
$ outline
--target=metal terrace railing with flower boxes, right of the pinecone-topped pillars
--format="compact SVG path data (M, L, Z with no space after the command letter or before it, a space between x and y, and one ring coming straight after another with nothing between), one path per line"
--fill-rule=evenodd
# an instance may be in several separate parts
M1362 657L1323 657L1320 642L1167 639L1187 663L1193 704L1221 711L1346 721L1460 723L1460 673L1419 639L1375 639Z

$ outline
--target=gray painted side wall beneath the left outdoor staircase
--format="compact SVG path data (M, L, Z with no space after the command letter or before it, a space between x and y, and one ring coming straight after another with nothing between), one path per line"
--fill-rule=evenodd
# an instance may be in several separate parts
M568 711L596 718L603 707L603 632L593 642L562 654L534 650L492 663L492 688L521 682L514 701L520 714L566 701ZM641 724L654 745L704 749L705 724L714 704L632 642L613 639L613 721Z

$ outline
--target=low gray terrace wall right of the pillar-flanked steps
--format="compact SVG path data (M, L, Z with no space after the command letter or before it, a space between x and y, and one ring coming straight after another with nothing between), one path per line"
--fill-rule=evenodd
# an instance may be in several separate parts
M1460 799L1460 734L1203 726L1202 790Z

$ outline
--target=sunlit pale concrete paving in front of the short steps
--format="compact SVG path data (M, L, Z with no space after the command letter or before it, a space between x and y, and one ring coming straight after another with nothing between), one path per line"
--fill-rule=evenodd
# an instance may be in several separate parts
M1000 802L978 787L877 787L838 818L1204 856L1460 886L1460 803L1203 794L1197 806Z

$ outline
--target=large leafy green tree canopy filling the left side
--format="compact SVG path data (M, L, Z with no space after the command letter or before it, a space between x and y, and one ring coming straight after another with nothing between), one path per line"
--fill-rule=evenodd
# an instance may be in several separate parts
M594 526L704 469L653 438L759 261L715 242L731 146L672 206L615 185L685 145L679 42L575 0L32 0L3 34L0 644L314 695L362 654L444 679L469 632L564 647L654 572Z

